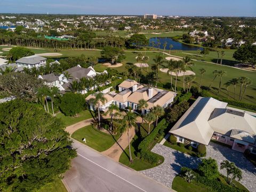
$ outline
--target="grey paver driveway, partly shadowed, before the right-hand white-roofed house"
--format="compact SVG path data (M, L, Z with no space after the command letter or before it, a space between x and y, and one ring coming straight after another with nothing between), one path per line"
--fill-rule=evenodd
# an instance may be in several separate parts
M141 171L143 174L153 178L167 187L172 186L175 175L180 172L182 166L195 169L201 159L183 154L177 150L157 144L152 151L164 157L164 163L153 169ZM207 146L206 157L212 157L220 163L227 159L234 162L243 172L243 179L240 181L250 191L256 191L256 169L253 164L248 161L242 153L231 150L221 145L210 143ZM225 170L220 170L225 175Z

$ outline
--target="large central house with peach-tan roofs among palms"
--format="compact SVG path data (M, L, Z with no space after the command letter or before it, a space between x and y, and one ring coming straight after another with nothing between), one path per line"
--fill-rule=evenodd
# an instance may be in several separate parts
M121 109L131 107L132 110L136 110L139 104L139 100L144 99L148 103L148 107L145 109L145 113L154 106L167 107L174 99L174 92L157 89L155 87L148 87L139 84L132 79L126 79L118 85L119 93L115 91L104 94L107 102L100 105L100 109L105 111L111 103L114 103ZM97 93L96 93L97 94ZM89 95L86 100L95 98L95 94ZM91 110L94 110L94 106L90 106Z

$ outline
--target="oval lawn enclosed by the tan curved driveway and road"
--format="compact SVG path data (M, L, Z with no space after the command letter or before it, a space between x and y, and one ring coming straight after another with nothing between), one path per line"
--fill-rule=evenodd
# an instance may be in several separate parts
M85 145L98 150L105 151L111 146L114 145L116 140L119 138L119 134L112 136L107 133L103 133L97 129L94 129L92 125L83 127L77 131L75 131L71 137L76 139L77 141L83 142L82 139L86 139Z

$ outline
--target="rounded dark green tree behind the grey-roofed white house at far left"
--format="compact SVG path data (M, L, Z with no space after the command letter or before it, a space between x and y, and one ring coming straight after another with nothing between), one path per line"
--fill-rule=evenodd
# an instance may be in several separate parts
M30 55L34 55L35 53L31 51L30 49L26 47L13 47L9 53L8 57L10 58L11 61L16 61L22 57L27 57Z

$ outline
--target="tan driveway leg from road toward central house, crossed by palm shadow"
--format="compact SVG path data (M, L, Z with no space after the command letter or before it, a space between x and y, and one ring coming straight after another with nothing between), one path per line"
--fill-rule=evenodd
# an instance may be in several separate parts
M129 130L129 136L130 136L130 142L132 141L132 138L135 135L135 129L132 127ZM126 147L129 145L128 143L128 135L127 130L122 134L122 136L118 139L117 142L113 146L111 146L109 149L102 152L103 155L106 155L113 159L115 162L119 162L119 158L123 151L126 149Z

